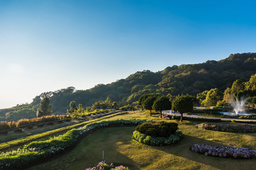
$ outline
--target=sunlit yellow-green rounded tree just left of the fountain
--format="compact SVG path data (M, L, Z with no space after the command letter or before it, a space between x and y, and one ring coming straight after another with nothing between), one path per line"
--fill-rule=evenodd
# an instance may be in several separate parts
M216 106L218 101L222 101L223 93L215 89L210 89L210 91L207 92L206 99L203 100L202 105L203 106Z

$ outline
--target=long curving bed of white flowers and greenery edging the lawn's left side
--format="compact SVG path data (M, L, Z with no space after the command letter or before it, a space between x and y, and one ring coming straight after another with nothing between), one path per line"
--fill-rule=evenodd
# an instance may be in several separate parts
M36 164L41 159L63 152L68 147L75 145L82 135L91 130L126 125L139 125L150 120L108 120L90 123L82 128L69 130L65 134L53 137L50 140L35 141L23 147L23 149L13 150L11 152L1 152L0 169L24 169L26 166Z

